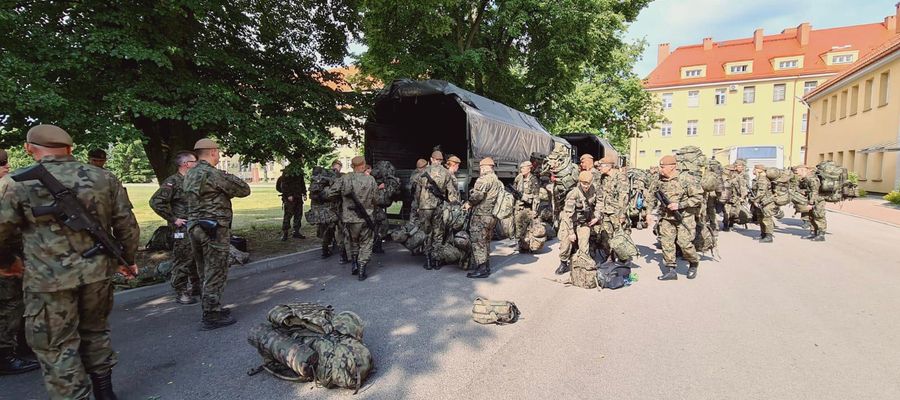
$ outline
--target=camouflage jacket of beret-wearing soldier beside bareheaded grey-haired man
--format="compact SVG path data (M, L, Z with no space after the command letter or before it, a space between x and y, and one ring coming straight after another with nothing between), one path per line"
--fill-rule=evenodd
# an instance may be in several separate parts
M219 171L204 160L197 162L184 177L188 220L210 219L231 227L231 199L250 195L250 185L234 175Z

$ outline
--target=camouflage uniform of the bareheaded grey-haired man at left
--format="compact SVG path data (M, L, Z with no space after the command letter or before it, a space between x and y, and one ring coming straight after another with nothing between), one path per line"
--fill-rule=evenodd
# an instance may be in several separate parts
M202 287L197 264L194 262L194 252L191 249L191 240L187 237L187 225L181 228L175 226L176 219L187 220L187 199L184 195L184 175L175 173L166 178L159 185L156 193L150 197L150 208L169 224L175 233L174 246L172 248L172 288L176 293L187 292L188 281L192 291L198 294Z

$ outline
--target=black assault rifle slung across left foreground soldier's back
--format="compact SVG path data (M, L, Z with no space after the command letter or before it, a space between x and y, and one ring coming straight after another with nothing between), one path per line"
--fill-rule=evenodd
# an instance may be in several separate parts
M85 231L94 238L94 246L81 253L82 257L91 258L102 252L113 256L120 265L129 266L132 264L125 260L125 256L122 254L122 247L109 237L109 232L78 201L75 192L63 186L42 164L23 168L14 173L12 179L16 182L36 180L53 196L53 204L32 207L32 215L35 217L52 215L53 218L68 226L69 229Z

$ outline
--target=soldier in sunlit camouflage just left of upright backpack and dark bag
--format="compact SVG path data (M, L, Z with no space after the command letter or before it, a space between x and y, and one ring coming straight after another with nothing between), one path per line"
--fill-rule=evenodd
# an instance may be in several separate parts
M590 171L578 174L578 186L566 194L563 209L559 213L559 268L557 275L568 272L572 266L572 245L578 244L578 256L590 257L591 227L596 218L597 191Z

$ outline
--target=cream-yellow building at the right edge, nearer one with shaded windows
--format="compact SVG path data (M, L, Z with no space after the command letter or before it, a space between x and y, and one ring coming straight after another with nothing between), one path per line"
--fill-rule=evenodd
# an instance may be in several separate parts
M898 30L900 33L900 30ZM859 176L859 187L900 187L900 35L809 93L807 164L825 160Z

